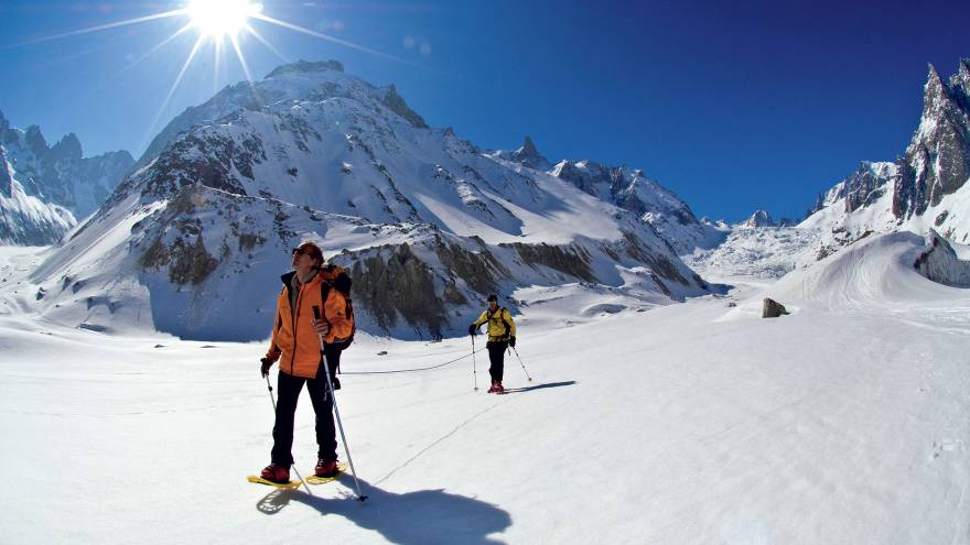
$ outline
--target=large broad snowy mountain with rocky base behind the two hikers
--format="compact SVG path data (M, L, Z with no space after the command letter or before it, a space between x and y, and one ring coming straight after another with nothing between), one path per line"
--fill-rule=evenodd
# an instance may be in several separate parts
M394 86L337 62L281 66L175 118L33 280L47 317L209 339L266 337L303 238L352 271L362 328L397 336L461 331L489 292L516 307L527 286L629 304L707 290L649 210L526 166L538 152L522 151L429 128Z

